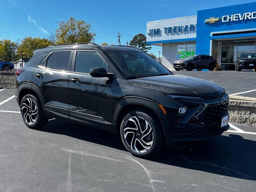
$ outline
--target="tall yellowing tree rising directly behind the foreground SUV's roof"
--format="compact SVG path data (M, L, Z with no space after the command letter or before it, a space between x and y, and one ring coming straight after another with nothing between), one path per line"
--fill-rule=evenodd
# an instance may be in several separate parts
M91 24L75 20L70 17L67 21L60 21L55 29L56 43L90 43L94 42L96 33L92 32Z

